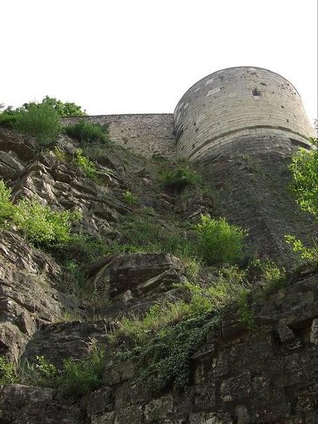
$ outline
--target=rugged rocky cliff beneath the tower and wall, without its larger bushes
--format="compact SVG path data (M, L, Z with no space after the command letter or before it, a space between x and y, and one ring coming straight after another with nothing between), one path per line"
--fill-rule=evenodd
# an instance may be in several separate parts
M24 370L36 364L43 371L44 358L42 377L49 380L50 366L59 372L65 360L79 363L98 344L103 368L97 384L80 394L15 375L0 389L0 423L317 423L317 273L311 266L292 270L283 242L286 233L308 240L314 227L288 194L288 155L279 149L272 156L223 155L194 165L205 183L179 192L160 183L162 169L176 165L164 158L113 144L85 146L92 179L72 159L78 147L64 136L43 150L31 138L0 130L0 176L12 200L37 199L81 214L73 244L44 248L15 225L1 230L0 354ZM206 213L247 228L240 266L247 270L252 255L270 257L286 267L284 284L253 295L251 284L262 278L256 272L243 306L225 304L217 322L212 312L195 326L187 322L185 346L176 337L178 356L167 352L162 362L174 376L162 367L157 374L148 369L142 380L140 351L127 340L114 344L112 336L123 317L187 304L187 282L196 279L204 288L218 281L216 266L178 257L182 240L194 237L185 223ZM160 373L165 384L153 387L151 380L164 378Z

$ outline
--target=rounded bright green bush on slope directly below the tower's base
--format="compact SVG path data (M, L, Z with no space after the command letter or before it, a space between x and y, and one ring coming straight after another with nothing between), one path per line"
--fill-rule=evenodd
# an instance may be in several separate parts
M197 250L206 264L235 264L243 257L243 241L247 232L224 218L201 215L194 226L198 234Z

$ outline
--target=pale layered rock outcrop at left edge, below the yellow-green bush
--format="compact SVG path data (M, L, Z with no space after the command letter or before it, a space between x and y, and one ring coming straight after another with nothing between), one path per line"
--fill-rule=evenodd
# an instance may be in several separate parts
M41 326L79 305L54 288L60 273L55 261L18 234L1 232L0 260L0 353L18 360Z

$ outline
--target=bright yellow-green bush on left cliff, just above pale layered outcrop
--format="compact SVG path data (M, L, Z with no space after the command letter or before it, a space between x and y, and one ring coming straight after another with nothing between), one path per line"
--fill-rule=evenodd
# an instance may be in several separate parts
M80 219L79 212L54 212L37 200L22 199L17 203L12 221L33 243L50 245L70 239L71 224Z

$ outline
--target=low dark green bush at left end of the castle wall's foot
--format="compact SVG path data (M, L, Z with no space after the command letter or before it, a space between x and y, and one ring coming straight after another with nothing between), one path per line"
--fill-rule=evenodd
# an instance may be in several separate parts
M64 131L68 136L80 142L99 142L105 144L110 141L107 127L88 122L84 119L79 120L75 125L64 127Z

